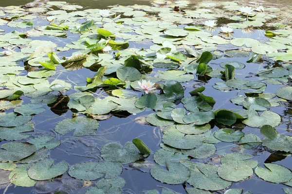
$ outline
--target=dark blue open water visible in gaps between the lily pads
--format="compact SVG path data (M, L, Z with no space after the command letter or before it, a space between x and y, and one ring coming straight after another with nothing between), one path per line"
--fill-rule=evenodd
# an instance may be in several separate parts
M0 6L9 6L9 5L19 5L19 4L25 4L30 2L30 0L0 0ZM92 0L67 0L67 2L70 3L76 3L78 5L81 5L84 7L84 9L88 8L106 8L109 5L113 4L121 4L121 5L129 5L129 4L146 4L150 5L149 1L132 1L132 0L98 0L98 1L92 1ZM271 3L279 3L281 1L272 1ZM283 1L283 3L291 3L292 1ZM12 29L10 29L12 30ZM10 31L7 29L6 32ZM253 34L243 34L240 32L240 30L235 31L235 37L250 37L250 38L256 38L258 40L266 39L264 36L264 32L261 30L256 30ZM76 34L69 34L68 37L75 37L78 38L78 35ZM38 37L31 38L31 39L39 39ZM58 43L58 46L64 46L66 43L72 42L71 39L66 38L59 38L60 42ZM45 40L51 40L55 42L55 38L47 37ZM147 48L150 45L135 45L136 48ZM76 50L74 50L76 51ZM73 51L63 52L64 56L68 57L71 56ZM223 61L228 60L227 58L221 58L217 60L212 60L209 64L212 68L218 68L219 64ZM232 61L239 61L244 64L246 64L246 67L241 70L236 70L236 77L244 79L246 76L249 76L249 72L257 72L258 69L262 68L264 65L266 65L268 62L263 62L262 64L247 64L246 63L247 58L232 58ZM64 68L59 65L56 69L56 75L49 78L50 81L54 79L60 79L64 80L66 82L71 83L73 86L75 84L86 84L86 77L92 77L95 72L92 72L89 69L83 68L75 71L64 71ZM62 73L58 73L62 72ZM197 80L197 78L195 78ZM258 80L258 78L253 78L251 80ZM212 87L216 82L221 81L221 79L212 78L211 80L207 81L204 85L206 87L206 90L204 91L204 95L211 96L216 100L216 104L214 106L214 109L232 109L232 108L240 108L240 106L236 106L235 104L230 102L230 97L235 97L237 95L243 95L244 91L234 90L230 92L221 92L219 90L216 90ZM190 81L188 83L182 83L182 85L188 85L191 86L195 81ZM276 89L282 87L281 85L268 85L265 92L269 93L275 93ZM192 88L188 88L185 91L185 94L188 94L192 90ZM74 93L75 91L70 90L66 92L66 94L63 95L70 95ZM97 91L99 95L106 95L104 91ZM22 97L24 100L23 104L29 103L29 98ZM288 105L289 106L289 105ZM9 110L7 112L12 112L12 110ZM282 115L285 120L291 120L291 113L288 112L286 108L283 107L273 107L271 108L271 111L278 113ZM143 142L153 151L153 153L160 149L159 144L161 143L161 129L159 127L153 127L150 125L145 124L139 124L136 122L135 119L137 117L146 116L147 114L152 113L152 111L149 112L142 112L138 113L137 115L127 115L126 113L121 113L120 117L112 116L108 120L100 121L100 127L96 131L96 135L90 135L89 137L78 137L78 138L72 138L72 132L69 134L66 134L64 136L60 136L58 134L57 138L62 141L62 145L58 146L57 148L53 149L50 152L49 158L56 159L55 162L60 162L65 160L69 163L69 165L73 165L79 162L86 162L86 161L96 161L99 160L99 149L108 143L112 142L120 142L121 145L124 145L126 142L131 141L134 138L140 138L143 140ZM38 132L51 132L51 129L55 128L55 125L57 122L65 119L70 118L72 116L72 112L70 110L64 110L62 107L59 107L54 110L54 112L50 109L50 107L46 107L46 111L42 114L38 114L34 116L33 121L35 122L35 131ZM290 126L291 127L291 126ZM285 133L286 129L289 128L289 123L283 123L282 125L278 126L277 129L281 133ZM212 129L212 132L218 130L219 128L215 126ZM246 126L243 129L244 133L254 133L256 135L259 135L259 129L254 129ZM5 141L2 141L0 145L6 143ZM221 142L219 144L216 144L217 147L217 155L222 155L224 153L231 153L231 148L237 146L236 144L232 143L224 143ZM291 168L292 165L292 159L291 157L285 158L285 160L282 160L281 157L277 157L276 155L272 155L270 152L259 150L257 153L250 153L255 156L254 160L258 161L259 166L263 166L264 162L275 162L277 164L284 165L288 168ZM90 158L89 158L90 157ZM193 159L193 162L203 162L204 160L196 160ZM154 164L153 161L153 154L151 154L146 160L145 163ZM142 193L142 191L146 190L152 190L152 189L158 189L157 186L166 187L169 189L172 189L176 192L186 194L185 189L183 188L183 185L168 185L161 183L159 181L156 181L154 178L151 177L149 173L150 168L141 168L141 170L134 169L134 168L128 168L127 165L126 168L124 168L124 172L122 173L121 177L123 177L127 184L123 188L124 193L131 193L131 194L139 194ZM68 174L63 175L63 177L70 177ZM186 185L186 187L189 187L189 185ZM287 188L288 186L283 184L274 184L269 183L267 181L264 181L260 178L258 178L255 174L252 178L249 180L245 180L242 182L234 182L231 186L233 189L243 189L244 192L250 191L253 194L280 194L284 193L282 188ZM1 192L4 192L4 188L1 190ZM24 187L14 187L11 186L6 191L6 194L29 194L33 193L33 188L24 188ZM75 193L75 192L73 192ZM84 190L78 191L78 193L84 193Z

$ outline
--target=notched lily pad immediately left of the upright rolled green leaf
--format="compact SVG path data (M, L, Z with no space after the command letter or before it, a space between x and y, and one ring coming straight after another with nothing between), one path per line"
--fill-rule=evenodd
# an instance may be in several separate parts
M127 142L123 147L118 143L110 143L101 148L101 157L105 161L120 162L121 164L139 160L139 153L140 151L132 142Z

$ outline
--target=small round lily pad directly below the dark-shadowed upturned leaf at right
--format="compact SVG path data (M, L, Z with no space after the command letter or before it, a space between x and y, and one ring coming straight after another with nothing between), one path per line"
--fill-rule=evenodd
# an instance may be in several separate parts
M214 136L222 142L236 142L238 141L244 133L240 130L234 129L220 129L215 131Z

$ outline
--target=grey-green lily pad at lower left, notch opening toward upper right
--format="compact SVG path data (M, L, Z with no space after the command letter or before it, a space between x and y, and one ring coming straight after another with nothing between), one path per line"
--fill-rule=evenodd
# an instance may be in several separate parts
M59 162L52 166L55 160L43 160L34 163L28 170L28 176L34 180L50 180L63 175L69 169L67 162Z

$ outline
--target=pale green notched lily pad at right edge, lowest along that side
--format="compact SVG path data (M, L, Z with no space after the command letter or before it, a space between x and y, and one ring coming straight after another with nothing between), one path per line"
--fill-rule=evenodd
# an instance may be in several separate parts
M264 163L267 168L256 167L256 175L269 182L282 183L292 179L292 172L288 168L274 163Z

